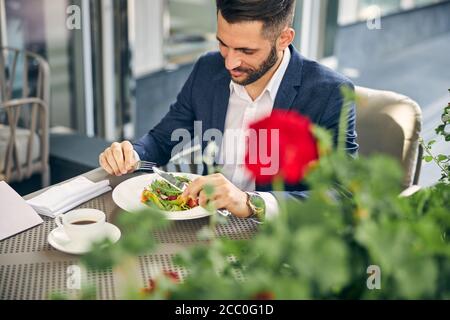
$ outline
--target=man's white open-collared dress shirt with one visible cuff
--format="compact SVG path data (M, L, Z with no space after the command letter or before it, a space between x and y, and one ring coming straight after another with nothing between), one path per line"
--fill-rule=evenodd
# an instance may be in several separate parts
M245 168L245 136L251 123L268 117L286 73L291 52L286 48L283 59L263 92L254 101L244 86L230 82L230 100L225 120L225 132L220 148L219 164L222 173L243 191L254 191L255 180ZM266 218L278 213L278 202L269 192L259 192L266 204Z

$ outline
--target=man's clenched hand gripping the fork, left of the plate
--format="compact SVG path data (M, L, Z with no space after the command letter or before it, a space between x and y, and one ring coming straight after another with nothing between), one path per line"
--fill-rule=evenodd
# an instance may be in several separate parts
M109 174L121 176L134 171L136 159L129 141L114 142L99 156L99 163Z

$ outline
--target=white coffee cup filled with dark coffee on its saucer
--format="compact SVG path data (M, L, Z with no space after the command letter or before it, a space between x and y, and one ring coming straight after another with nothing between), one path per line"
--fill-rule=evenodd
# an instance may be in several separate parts
M92 242L106 236L106 216L97 209L76 209L55 217L55 222L65 236L57 236L60 242L75 243L88 248Z

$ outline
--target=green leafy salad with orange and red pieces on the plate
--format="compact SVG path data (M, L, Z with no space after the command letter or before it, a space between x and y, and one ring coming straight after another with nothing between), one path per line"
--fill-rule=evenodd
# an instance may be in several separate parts
M180 182L190 183L186 177L176 176ZM155 180L142 191L141 202L164 211L184 211L198 206L198 200L181 197L182 192L165 180Z

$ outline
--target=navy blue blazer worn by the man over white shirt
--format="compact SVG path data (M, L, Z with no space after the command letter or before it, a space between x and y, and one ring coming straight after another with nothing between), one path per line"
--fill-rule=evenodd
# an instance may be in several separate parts
M346 77L308 60L290 46L291 60L278 90L274 109L295 110L310 118L315 124L338 135L339 115L343 98L340 88L354 88ZM133 143L142 160L165 165L172 148L179 141L171 141L172 132L184 128L194 137L194 121L202 121L202 131L218 129L223 133L230 98L231 77L219 52L207 53L196 62L177 100L169 112L149 133ZM202 133L203 134L203 133ZM202 140L200 140L202 141ZM186 141L188 142L188 141ZM347 129L347 151L356 153L355 106L350 107ZM203 141L203 149L207 142ZM286 185L284 193L276 197L304 197L304 185ZM271 191L271 186L257 185L257 191Z

